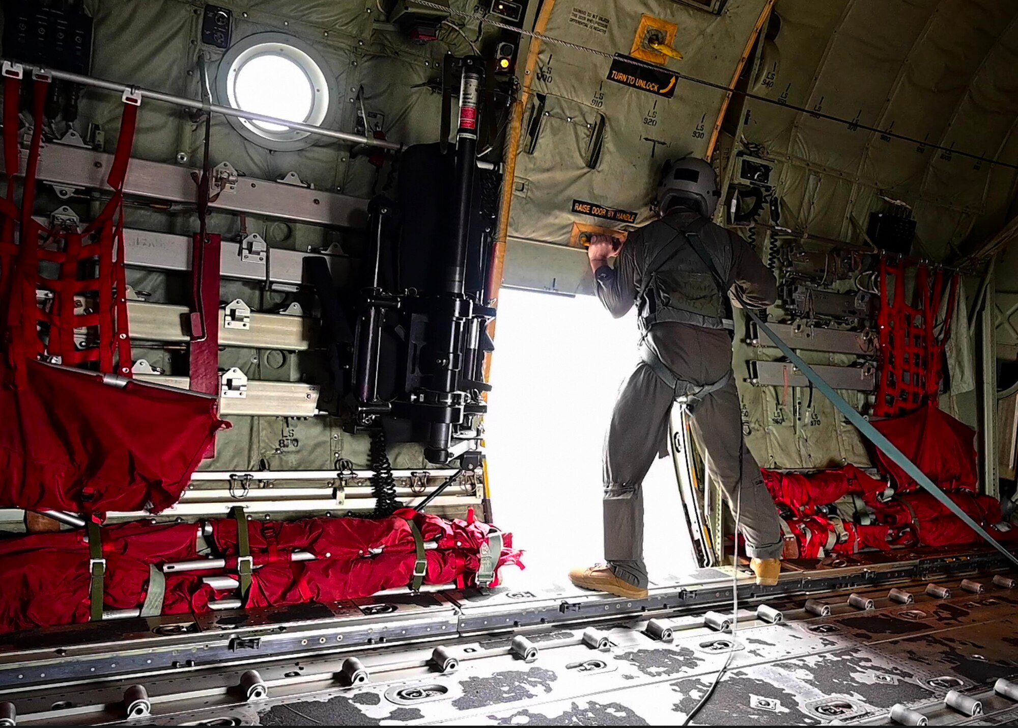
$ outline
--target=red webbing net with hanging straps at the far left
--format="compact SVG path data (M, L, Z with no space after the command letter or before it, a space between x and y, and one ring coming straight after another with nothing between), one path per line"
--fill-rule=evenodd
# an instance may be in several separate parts
M43 114L49 81L32 87L34 126L24 171L21 210L13 203L18 166L17 118L20 81L4 79L4 164L8 195L0 207L0 314L15 369L23 359L46 357L68 366L131 374L123 252L123 186L137 121L136 103L124 103L120 137L107 183L113 194L83 230L50 229L33 218L42 150ZM125 97L127 101L129 97ZM14 244L14 220L20 222ZM116 364L114 363L116 361ZM20 380L23 384L23 378Z

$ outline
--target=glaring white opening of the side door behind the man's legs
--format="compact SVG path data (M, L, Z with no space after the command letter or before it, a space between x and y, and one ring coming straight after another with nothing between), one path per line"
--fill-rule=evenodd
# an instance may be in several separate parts
M495 523L526 551L529 583L565 584L604 559L602 447L638 339L633 314L614 319L592 297L499 295L489 474ZM644 503L652 581L694 569L671 458L651 468Z

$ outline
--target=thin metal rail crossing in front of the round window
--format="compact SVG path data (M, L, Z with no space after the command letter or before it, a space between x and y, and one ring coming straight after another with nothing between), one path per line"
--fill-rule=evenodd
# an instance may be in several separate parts
M82 75L81 73L71 73L70 71L47 68L45 66L35 65L32 63L21 63L9 58L2 58L0 61L3 62L3 74L5 76L16 73L17 68L20 67L25 70L31 70L34 77L58 79L60 81L68 81L72 84L79 84L80 86L88 86L93 89L105 89L106 91L113 91L118 94L122 94L124 99L130 97L153 99L154 101L162 101L163 103L172 104L173 106L180 106L187 109L197 109L200 111L205 111L206 113L214 112L222 114L223 116L247 119L248 121L274 123L286 126L287 128L296 129L297 132L313 134L317 137L326 137L339 142L346 142L347 144L362 144L366 147L379 147L390 152L399 152L403 149L402 144L397 142L388 142L384 139L364 137L358 134L350 134L349 132L337 132L336 129L324 128L322 126L316 126L315 124L303 123L301 121L289 121L287 119L279 118L278 116L268 116L266 114L254 113L252 111L235 109L231 106L221 106L220 104L199 101L196 99L188 99L186 96L176 96L174 94L167 94L163 91L154 91L153 89L146 89L139 86L128 86L120 82L96 79L95 76ZM492 162L485 162L478 159L477 167L480 169L495 169L496 165Z

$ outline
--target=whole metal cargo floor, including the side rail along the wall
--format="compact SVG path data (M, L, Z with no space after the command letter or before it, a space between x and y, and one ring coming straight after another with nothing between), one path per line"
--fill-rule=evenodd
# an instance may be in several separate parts
M979 563L962 567L972 575ZM204 615L178 621L196 631L170 635L121 623L131 636L120 641L102 631L110 625L87 625L106 641L76 643L73 629L58 630L60 638L46 644L33 645L26 636L9 640L7 652L0 652L6 681L0 700L12 700L24 725L121 722L124 690L133 684L148 690L153 715L147 722L153 725L674 724L734 644L731 670L696 722L879 723L895 703L936 708L948 689L987 690L996 677L1018 675L1010 657L1018 642L1011 636L1018 627L1018 591L992 585L993 574L984 573L973 577L984 592L969 593L959 588L960 576L942 573L935 581L950 587L951 597L925 593L929 579L922 576L956 568L953 561L910 563L907 569L920 578L907 583L895 564L790 575L781 586L762 589L740 579L734 635L703 623L706 610L730 609L731 577L720 571L708 583L658 587L638 602L516 584L484 595L408 594L331 608ZM914 603L891 601L885 579L913 594ZM803 593L823 585L827 591ZM874 609L849 606L850 591L872 600ZM767 602L783 611L783 623L756 618L756 604L768 593L774 599ZM830 606L831 616L807 613L807 596ZM674 630L673 641L645 633L652 617ZM584 643L587 628L607 635L610 651ZM539 648L535 661L513 654L517 636ZM259 642L243 643L250 638ZM55 655L63 649L54 647L61 639L75 646ZM458 671L435 669L436 645L459 660ZM343 686L350 657L362 662L369 682ZM133 675L123 674L126 660L135 661L128 671ZM159 664L142 667L150 660ZM117 669L105 679L74 677L90 665L106 669L114 661ZM237 689L250 668L261 674L267 699L247 701ZM17 670L23 672L15 676ZM1008 709L999 706L987 720Z

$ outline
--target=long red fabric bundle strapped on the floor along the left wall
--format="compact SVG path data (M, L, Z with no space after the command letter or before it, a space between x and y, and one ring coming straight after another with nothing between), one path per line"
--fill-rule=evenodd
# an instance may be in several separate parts
M370 596L411 584L416 563L412 519L422 539L436 544L427 551L422 583L460 587L476 584L482 553L499 532L478 522L447 521L438 516L401 511L392 518L308 518L288 523L247 521L254 564L246 607L282 607L308 602L336 602ZM202 524L115 524L101 529L106 575L105 611L139 609L146 605L152 579L165 579L165 595L155 614L201 613L217 597L203 577L236 574L237 520L218 519L210 538L212 556L225 558L227 569L163 573L167 563L202 559ZM520 564L512 534L500 533L502 549L494 575ZM294 552L314 554L316 561L293 562ZM86 531L40 533L0 540L0 632L88 622L91 612L90 551ZM157 589L158 591L158 589Z

